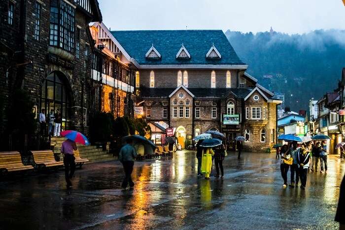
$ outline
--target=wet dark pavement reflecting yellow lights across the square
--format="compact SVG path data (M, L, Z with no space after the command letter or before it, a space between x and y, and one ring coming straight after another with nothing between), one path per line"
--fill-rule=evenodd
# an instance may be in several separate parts
M133 191L120 188L118 161L76 170L71 191L62 171L13 176L0 182L0 229L337 229L345 161L329 156L305 191L283 189L279 165L273 153L229 153L224 179L205 180L180 151L135 162Z

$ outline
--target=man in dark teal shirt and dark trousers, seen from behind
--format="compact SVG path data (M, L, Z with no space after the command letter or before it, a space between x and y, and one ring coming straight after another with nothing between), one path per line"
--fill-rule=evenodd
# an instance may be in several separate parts
M125 171L125 178L122 182L122 188L128 189L128 184L130 188L134 187L134 183L132 181L132 172L134 166L134 159L137 157L136 150L132 146L133 140L128 138L126 140L126 145L124 145L119 153L119 161L123 165L123 169Z

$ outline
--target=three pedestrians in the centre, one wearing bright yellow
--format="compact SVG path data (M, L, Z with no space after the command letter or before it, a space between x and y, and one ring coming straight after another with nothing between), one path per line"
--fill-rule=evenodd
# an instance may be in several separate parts
M198 159L198 176L204 176L205 179L210 179L210 173L212 170L212 162L214 160L216 174L215 177L224 177L223 160L226 156L225 146L223 144L216 147L202 147L203 140L199 140L197 147L197 159Z

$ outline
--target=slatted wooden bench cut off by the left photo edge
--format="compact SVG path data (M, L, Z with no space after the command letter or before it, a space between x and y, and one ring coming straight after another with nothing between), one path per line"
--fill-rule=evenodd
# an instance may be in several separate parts
M24 165L19 152L0 152L0 172L13 172L33 169L32 165Z

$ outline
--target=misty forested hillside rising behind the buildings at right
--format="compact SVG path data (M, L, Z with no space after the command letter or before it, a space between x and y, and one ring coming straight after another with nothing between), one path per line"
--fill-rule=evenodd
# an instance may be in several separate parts
M285 106L292 110L307 109L311 97L319 99L333 91L345 67L345 31L254 35L228 30L225 34L249 65L247 72L271 90L284 93Z

